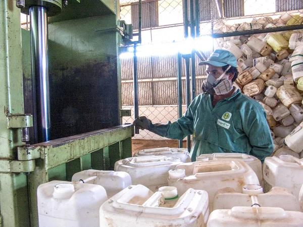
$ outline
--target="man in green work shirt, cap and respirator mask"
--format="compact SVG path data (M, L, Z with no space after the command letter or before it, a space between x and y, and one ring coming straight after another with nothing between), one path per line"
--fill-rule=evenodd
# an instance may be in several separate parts
M153 124L139 117L133 125L170 139L193 135L192 161L201 154L220 152L254 155L263 162L274 150L273 139L262 105L232 85L238 76L235 56L217 49L199 65L206 65L208 75L203 93L181 118L174 123Z

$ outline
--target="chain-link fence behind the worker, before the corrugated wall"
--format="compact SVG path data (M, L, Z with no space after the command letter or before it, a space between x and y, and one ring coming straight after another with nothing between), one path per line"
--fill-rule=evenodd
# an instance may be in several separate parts
M187 0L189 6L189 0ZM216 34L222 37L237 35L240 31L260 33L264 29L283 27L299 29L303 22L302 2L298 0L199 0L200 35ZM121 0L121 20L138 28L138 0ZM189 8L189 7L188 7ZM148 43L177 42L184 39L184 5L181 0L142 1L142 45ZM189 9L188 9L189 21ZM268 30L270 31L270 30ZM239 36L224 37L224 40ZM214 42L213 48L217 43ZM210 52L207 52L208 56ZM203 67L197 66L196 94L206 77ZM122 60L123 108L132 109L132 59ZM182 62L182 100L185 106L185 64ZM175 55L138 58L139 115L153 122L167 123L178 118L177 59ZM133 117L124 118L132 122ZM163 139L148 131L140 131L136 139Z

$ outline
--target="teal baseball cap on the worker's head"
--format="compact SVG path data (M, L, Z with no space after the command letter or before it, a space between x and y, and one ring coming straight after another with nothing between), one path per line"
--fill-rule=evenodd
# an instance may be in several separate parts
M235 68L237 66L237 59L235 55L225 49L216 49L205 62L200 62L199 66L212 65L217 67L222 67L226 65L231 65Z

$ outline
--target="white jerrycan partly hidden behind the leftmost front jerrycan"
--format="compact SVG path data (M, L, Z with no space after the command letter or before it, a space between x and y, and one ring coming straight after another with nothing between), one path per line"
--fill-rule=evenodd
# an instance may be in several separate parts
M132 185L131 177L128 173L115 171L98 171L94 169L88 169L86 171L81 171L74 174L72 181L101 185L105 188L109 198L116 195L126 187Z

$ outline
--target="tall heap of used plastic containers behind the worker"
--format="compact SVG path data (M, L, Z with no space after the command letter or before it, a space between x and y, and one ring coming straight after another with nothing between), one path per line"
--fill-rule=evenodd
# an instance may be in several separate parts
M303 18L297 16L296 20ZM239 75L234 85L264 107L275 156L299 158L303 146L294 134L303 127L302 33L296 30L216 39L217 48L227 49L237 58Z

